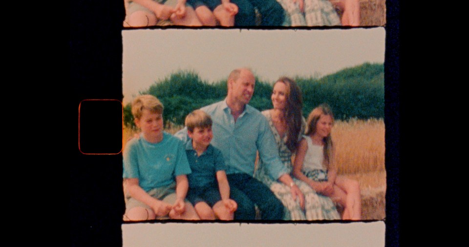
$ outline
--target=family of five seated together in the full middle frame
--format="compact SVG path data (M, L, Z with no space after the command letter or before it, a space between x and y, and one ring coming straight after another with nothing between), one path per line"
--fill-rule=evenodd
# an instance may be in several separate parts
M297 83L281 77L273 109L259 112L248 104L255 82L233 70L226 98L191 112L174 136L157 98L132 102L141 133L124 149L124 220L255 220L256 206L262 220L361 219L359 183L337 175L330 107L305 120Z

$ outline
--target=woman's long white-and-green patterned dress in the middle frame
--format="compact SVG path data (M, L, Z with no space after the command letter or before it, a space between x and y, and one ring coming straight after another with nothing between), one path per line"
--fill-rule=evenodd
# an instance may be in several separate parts
M272 121L270 110L263 111L262 114L269 121L270 128L274 133L274 137L278 146L278 154L283 162L283 165L291 172L293 165L291 161L292 153L285 144L286 134L283 138L277 132L276 127ZM302 124L302 131L306 125L304 119ZM301 136L301 135L300 135ZM299 201L295 201L290 193L290 187L282 183L274 181L267 173L266 165L259 160L258 167L255 171L254 177L270 187L278 199L280 199L285 206L284 220L338 220L340 215L337 212L336 206L329 197L317 194L309 185L298 179L293 179L298 185L298 188L304 195L305 206L304 210L299 206Z

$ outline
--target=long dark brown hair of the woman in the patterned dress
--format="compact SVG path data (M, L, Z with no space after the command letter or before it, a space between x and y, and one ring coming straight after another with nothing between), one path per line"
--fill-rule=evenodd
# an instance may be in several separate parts
M288 77L280 77L277 82L284 83L287 86L286 104L285 104L285 121L287 122L287 141L288 149L293 153L297 148L299 142L298 136L301 131L301 119L303 108L303 97L297 82Z

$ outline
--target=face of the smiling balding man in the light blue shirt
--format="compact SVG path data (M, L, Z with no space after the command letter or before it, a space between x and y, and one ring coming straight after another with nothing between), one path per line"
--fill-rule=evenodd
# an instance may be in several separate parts
M238 79L229 82L233 99L235 99L237 103L249 103L253 97L255 83L256 79L251 71L241 70Z

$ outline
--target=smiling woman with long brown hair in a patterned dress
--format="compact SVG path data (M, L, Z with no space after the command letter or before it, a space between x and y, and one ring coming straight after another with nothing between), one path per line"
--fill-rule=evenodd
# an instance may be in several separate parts
M292 155L296 151L306 125L302 116L301 91L294 80L281 77L274 84L271 99L274 108L262 111L262 114L267 118L274 134L283 165L292 171ZM269 186L288 209L285 210L284 220L340 219L330 198L317 194L309 185L300 180L295 179L291 185L277 183L266 172L262 159L259 159L255 177ZM295 186L298 186L303 193L301 196L304 196L304 203L302 203L302 198L292 193Z

